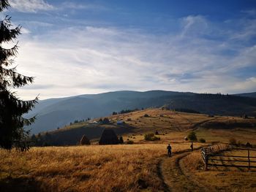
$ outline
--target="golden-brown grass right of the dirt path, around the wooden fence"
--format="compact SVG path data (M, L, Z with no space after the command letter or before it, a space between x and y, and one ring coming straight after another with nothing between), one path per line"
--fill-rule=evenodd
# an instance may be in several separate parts
M224 154L247 155L244 150L227 151ZM255 155L255 152L252 152L252 155ZM189 180L199 183L208 191L256 191L256 169L248 172L246 168L211 166L208 167L208 171L204 171L203 166L200 151L191 153L181 160L182 170Z

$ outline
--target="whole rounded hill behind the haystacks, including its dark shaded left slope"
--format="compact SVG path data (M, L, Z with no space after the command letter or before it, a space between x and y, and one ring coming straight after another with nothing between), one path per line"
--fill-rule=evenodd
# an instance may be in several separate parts
M146 109L108 117L109 124L75 123L48 132L48 145L78 145L83 134L96 141L104 128L113 128L116 134L135 143L145 143L144 134L159 132L159 143L183 140L189 131L195 131L198 139L211 142L228 142L232 137L241 142L255 142L256 119L232 116L209 116L162 109ZM94 119L99 121L99 118ZM91 120L94 121L94 120ZM118 125L117 121L124 121ZM44 135L44 134L43 134ZM256 143L255 143L256 144Z

